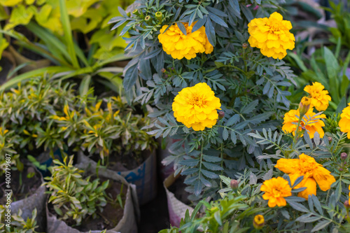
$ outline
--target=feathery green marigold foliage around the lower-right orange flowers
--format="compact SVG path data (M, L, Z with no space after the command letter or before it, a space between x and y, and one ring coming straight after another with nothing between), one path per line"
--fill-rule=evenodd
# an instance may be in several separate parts
M349 157L344 159L340 153L349 150L346 144L346 134L328 134L320 139L318 134L313 140L308 134L304 134L293 143L288 134L268 132L262 129L262 133L251 133L257 143L265 149L259 160L270 160L269 171L261 171L251 168L238 174L237 187L232 187L231 179L221 176L225 188L218 190L221 199L213 202L201 201L197 204L193 213L186 213L186 218L181 221L179 228L171 227L162 230L169 232L254 232L254 216L264 216L265 223L260 232L347 232L350 227L349 208L344 207L344 202L349 199L350 163ZM260 181L269 180L272 177L283 176L289 183L289 176L276 171L272 162L279 158L295 158L300 153L305 153L318 158L323 167L332 171L337 179L328 192L317 192L317 195L304 198L286 197L287 206L269 208L267 202L262 199ZM294 188L302 181L302 176L295 181ZM347 190L347 191L346 191ZM300 192L293 189L292 193ZM204 205L204 216L198 217L200 207Z

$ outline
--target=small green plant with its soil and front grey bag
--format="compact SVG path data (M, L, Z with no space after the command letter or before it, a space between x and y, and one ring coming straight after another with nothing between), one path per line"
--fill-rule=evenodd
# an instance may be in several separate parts
M50 194L48 232L137 232L132 191L123 178L106 178L98 170L86 176L73 166L73 156L54 163L43 184Z

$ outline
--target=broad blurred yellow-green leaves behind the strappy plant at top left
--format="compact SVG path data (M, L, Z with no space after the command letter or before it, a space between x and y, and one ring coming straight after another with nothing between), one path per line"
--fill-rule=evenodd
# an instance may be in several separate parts
M87 34L93 31L90 45L97 43L95 59L106 59L123 51L126 46L118 31L111 31L108 22L119 16L117 6L127 5L113 0L67 0L66 11L72 31ZM8 8L5 10L5 8ZM10 12L10 15L8 13ZM64 36L59 1L57 0L0 0L0 21L8 20L3 30L11 31L18 25L36 22L56 36ZM85 35L86 37L87 35ZM8 42L0 34L0 54ZM1 58L1 57L0 57Z

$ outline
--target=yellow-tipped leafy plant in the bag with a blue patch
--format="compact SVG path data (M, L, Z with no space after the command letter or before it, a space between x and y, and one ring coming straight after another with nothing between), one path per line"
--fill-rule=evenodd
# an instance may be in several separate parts
M156 195L156 143L141 129L149 125L149 118L132 112L123 98L92 98L71 109L66 104L53 118L78 152L78 163L99 163L124 176L137 185L144 204Z

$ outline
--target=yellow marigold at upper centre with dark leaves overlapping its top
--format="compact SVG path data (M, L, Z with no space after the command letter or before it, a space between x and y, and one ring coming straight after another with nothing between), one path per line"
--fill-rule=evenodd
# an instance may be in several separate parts
M197 31L192 32L194 24L195 22L188 26L188 23L183 23L186 28L186 35L182 33L177 24L172 25L169 29L167 29L168 25L164 25L158 35L163 50L172 55L174 59L183 59L183 57L192 59L197 56L198 52L207 54L213 52L214 48L208 41L205 27L202 26Z

